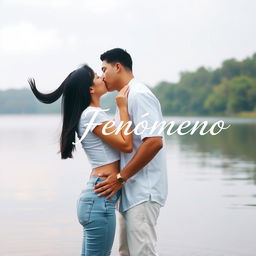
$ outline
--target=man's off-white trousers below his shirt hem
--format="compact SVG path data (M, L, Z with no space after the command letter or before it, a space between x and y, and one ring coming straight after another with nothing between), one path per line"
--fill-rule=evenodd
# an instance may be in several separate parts
M158 256L156 223L160 205L147 201L119 213L120 256Z

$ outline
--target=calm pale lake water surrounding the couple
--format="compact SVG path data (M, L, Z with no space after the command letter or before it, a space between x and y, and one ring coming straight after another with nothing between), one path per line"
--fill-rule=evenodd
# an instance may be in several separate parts
M256 120L229 121L217 136L166 138L160 256L256 255ZM59 116L0 116L1 256L80 254L76 200L90 166L81 147L60 160L59 131Z

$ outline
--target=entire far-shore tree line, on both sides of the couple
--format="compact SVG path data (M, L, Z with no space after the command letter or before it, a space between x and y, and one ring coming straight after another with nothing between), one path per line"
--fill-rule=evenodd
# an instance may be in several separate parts
M150 88L164 115L234 115L256 112L256 53L242 61L228 59L221 67L181 72L177 83L163 81ZM115 95L103 97L102 106L115 110ZM38 102L29 88L0 90L0 114L60 113L60 100Z

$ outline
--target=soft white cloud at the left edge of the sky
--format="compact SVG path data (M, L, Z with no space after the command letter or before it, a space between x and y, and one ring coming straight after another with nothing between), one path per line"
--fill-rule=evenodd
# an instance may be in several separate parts
M1 55L37 54L59 49L64 44L72 46L75 42L76 38L73 36L61 40L56 30L40 30L29 23L5 26L0 29Z

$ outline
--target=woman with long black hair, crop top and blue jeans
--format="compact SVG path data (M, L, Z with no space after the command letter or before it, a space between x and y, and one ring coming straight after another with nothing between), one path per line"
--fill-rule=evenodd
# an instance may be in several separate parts
M60 153L62 159L72 158L75 149L75 133L80 139L85 129L97 112L86 136L82 139L82 147L92 165L91 176L87 186L82 190L77 201L77 215L83 226L83 244L81 256L110 255L115 235L115 203L120 195L116 193L111 198L99 197L94 193L94 186L104 180L99 177L119 172L119 153L131 152L133 148L132 135L124 134L123 127L118 134L111 133L115 127L106 129L110 135L104 135L103 126L110 120L108 115L100 111L100 98L107 92L104 81L83 65L73 71L54 92L43 94L36 88L33 79L28 80L36 98L43 103L52 103L62 96L61 112L63 116L60 136ZM124 87L116 97L120 120L130 121L127 103L128 87ZM88 129L87 129L88 130Z

